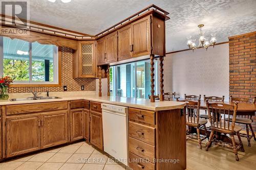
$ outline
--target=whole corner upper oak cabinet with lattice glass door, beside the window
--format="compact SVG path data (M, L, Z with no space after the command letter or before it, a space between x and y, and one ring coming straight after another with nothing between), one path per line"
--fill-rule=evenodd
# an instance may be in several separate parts
M74 78L96 77L96 41L78 41L78 50L73 57Z

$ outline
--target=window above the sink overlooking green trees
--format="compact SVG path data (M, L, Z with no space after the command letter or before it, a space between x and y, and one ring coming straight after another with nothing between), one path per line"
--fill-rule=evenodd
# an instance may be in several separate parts
M58 84L56 45L0 37L0 76L15 84Z

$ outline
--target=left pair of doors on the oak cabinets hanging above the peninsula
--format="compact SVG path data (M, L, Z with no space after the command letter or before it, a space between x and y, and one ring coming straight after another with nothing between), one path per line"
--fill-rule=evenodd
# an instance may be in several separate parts
M117 32L111 33L97 41L98 65L117 61Z

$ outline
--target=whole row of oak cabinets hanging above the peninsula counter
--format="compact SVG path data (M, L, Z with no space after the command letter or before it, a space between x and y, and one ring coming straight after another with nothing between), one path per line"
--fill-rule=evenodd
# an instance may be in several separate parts
M154 14L131 21L97 40L98 65L146 55L165 56L165 20Z

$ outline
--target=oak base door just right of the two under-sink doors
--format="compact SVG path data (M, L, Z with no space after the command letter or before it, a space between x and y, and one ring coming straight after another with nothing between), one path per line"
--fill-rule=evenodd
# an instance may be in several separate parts
M83 138L83 109L75 109L70 112L71 126L70 136L71 141Z

